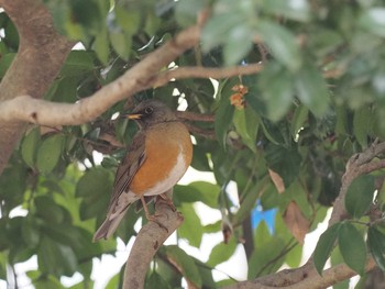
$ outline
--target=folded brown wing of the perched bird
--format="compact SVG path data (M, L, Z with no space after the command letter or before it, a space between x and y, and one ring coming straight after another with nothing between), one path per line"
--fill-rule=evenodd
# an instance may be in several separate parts
M109 212L111 212L111 209L113 210L112 207L114 207L119 197L124 191L129 191L132 178L143 165L145 158L145 134L143 131L140 131L135 134L128 149L127 156L118 167L113 184L113 192L108 209Z

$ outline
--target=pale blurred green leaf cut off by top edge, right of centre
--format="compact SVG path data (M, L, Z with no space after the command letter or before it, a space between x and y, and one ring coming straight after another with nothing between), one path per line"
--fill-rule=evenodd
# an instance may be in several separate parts
M310 5L306 0L262 1L263 9L277 16L297 21L310 20Z

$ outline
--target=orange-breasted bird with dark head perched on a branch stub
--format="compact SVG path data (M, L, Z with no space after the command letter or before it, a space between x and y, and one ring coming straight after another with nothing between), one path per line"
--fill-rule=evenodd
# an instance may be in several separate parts
M141 200L147 220L155 221L146 207L146 197L164 194L185 175L193 158L190 134L174 111L156 99L140 102L124 118L139 126L119 165L106 221L94 235L94 242L109 238L130 204ZM172 204L172 200L168 199Z

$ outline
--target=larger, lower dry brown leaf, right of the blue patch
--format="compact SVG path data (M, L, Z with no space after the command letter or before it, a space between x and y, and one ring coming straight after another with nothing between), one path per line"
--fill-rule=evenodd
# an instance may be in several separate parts
M294 237L302 245L305 235L310 229L310 222L304 216L298 204L294 201L287 205L284 221Z

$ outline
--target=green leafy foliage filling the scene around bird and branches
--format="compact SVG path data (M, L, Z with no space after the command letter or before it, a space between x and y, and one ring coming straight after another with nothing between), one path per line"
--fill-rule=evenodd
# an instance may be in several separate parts
M175 66L264 62L257 75L175 80L136 95L138 100L158 98L173 108L185 101L190 112L216 115L215 123L195 124L215 130L217 140L195 135L193 167L212 171L217 184L176 186L175 203L186 220L178 238L200 247L204 234L220 232L223 224L233 230L229 244L218 244L206 263L177 246L164 246L147 276L148 288L179 287L182 277L204 288L224 284L212 278L212 270L233 255L242 238L250 247L250 279L277 271L284 263L298 266L298 233L312 231L323 220L349 157L385 136L383 1L44 2L57 30L85 47L69 54L44 97L47 100L75 102L92 95L183 27L195 24L202 9L209 9L210 18L201 46L185 53ZM4 12L0 27L4 34L2 78L19 37ZM248 91L239 93L239 86ZM127 107L118 103L80 126L28 130L0 177L0 279L7 279L8 265L36 255L38 269L28 273L36 288L62 288L59 278L76 271L84 277L76 288L92 287L92 258L116 251L116 240L91 243L91 236L105 218L113 171L124 154L106 135L129 144L136 130L131 122L113 118ZM95 151L103 153L101 165ZM384 226L371 224L365 215L381 174L363 176L352 185L345 204L353 219L321 236L315 253L319 273L336 242L341 262L360 275L364 274L366 245L385 268ZM229 197L231 181L237 184L239 203ZM384 208L382 190L376 203ZM222 220L204 225L196 202L220 210ZM257 205L277 209L273 232L265 222L250 227L251 212ZM26 215L14 216L16 208ZM142 216L134 209L117 233L125 243L135 236L133 226ZM288 215L295 221L288 223ZM173 264L180 268L178 273ZM117 288L117 280L108 288Z

